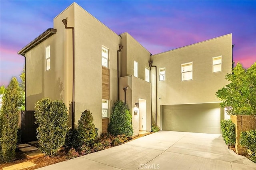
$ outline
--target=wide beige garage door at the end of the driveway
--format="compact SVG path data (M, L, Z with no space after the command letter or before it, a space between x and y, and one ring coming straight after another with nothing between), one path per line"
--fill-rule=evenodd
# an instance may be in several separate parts
M220 134L219 103L164 105L162 130Z

